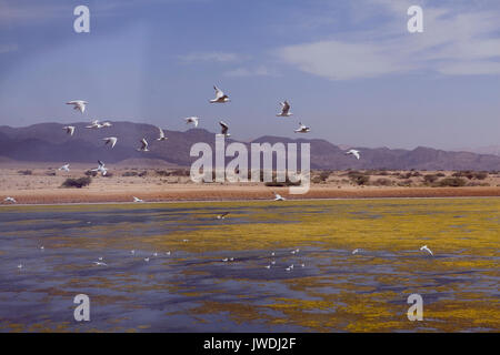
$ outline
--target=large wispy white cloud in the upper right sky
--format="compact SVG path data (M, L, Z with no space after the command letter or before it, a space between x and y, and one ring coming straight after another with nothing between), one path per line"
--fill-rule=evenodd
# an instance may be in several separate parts
M447 75L499 74L500 21L491 11L423 7L423 33L406 30L410 2L370 0L392 20L349 39L326 39L279 48L277 57L331 80L418 71Z

